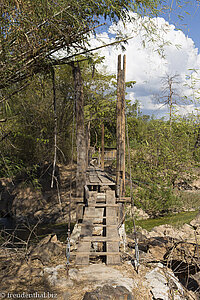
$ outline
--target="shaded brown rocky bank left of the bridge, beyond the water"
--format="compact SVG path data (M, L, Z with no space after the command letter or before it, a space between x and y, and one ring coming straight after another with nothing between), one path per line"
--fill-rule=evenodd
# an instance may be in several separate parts
M72 180L72 196L75 195L75 165L57 166L57 180L51 188L52 170L49 165L40 170L38 186L26 185L26 180L0 179L0 217L11 216L17 223L58 224L67 223ZM75 203L71 205L71 218L75 219Z

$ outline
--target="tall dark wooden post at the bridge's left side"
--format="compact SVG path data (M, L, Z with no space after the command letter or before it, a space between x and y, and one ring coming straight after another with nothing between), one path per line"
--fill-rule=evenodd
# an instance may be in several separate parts
M77 146L77 171L76 171L76 196L83 196L83 187L86 181L86 138L84 128L84 95L80 66L73 65L75 99L76 99L76 146Z

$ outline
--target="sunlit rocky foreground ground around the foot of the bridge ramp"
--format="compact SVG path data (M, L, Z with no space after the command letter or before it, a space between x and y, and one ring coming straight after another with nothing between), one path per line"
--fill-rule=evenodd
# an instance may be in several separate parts
M1 295L18 298L93 299L199 299L200 214L190 225L175 229L162 225L137 235L140 266L134 266L135 240L121 247L122 262L107 266L93 259L88 266L74 264L78 236L72 239L69 272L66 245L47 236L27 249L1 248ZM23 296L24 295L24 296ZM43 295L43 296L42 296ZM23 297L22 297L23 296ZM37 297L36 297L37 296ZM16 297L15 297L16 298Z

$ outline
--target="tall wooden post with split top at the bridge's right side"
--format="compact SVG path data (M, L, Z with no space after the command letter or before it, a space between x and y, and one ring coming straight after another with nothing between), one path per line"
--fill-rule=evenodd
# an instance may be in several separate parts
M125 195L125 71L126 56L123 57L121 69L121 55L118 56L117 73L117 168L116 183L120 185L119 197Z

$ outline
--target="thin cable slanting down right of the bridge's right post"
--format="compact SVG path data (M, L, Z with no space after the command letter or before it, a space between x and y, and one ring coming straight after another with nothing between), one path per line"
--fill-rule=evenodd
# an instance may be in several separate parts
M133 230L134 230L134 240L135 240L135 260L134 266L136 272L138 272L140 260L139 260L139 248L138 248L138 239L135 226L135 215L134 215L134 198L133 198L133 182L132 182L132 172L131 172L131 155L130 155L130 143L128 135L128 122L126 114L126 138L127 138L127 147L128 147L128 164L129 164L129 174L130 174L130 196L131 196L131 218L133 220Z

